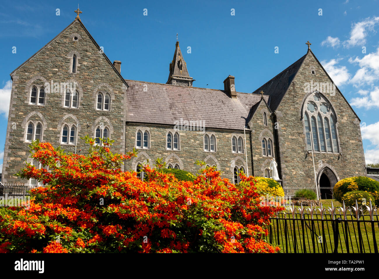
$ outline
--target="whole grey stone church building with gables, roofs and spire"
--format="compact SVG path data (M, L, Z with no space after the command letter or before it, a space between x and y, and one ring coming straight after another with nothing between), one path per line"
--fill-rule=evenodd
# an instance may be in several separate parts
M87 149L85 135L114 139L114 152L138 149L125 171L163 158L196 173L203 160L238 182L241 169L271 176L275 158L285 187L366 175L360 119L309 46L252 93L238 92L231 75L223 89L194 87L179 42L167 82L143 82L122 77L121 62L108 59L77 16L11 73L2 182L40 183L14 176L31 162L34 139L74 153Z

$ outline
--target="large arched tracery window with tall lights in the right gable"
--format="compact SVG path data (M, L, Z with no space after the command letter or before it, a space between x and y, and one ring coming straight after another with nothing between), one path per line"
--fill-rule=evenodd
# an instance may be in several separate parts
M305 99L302 113L307 150L312 150L312 139L314 151L338 153L337 123L329 100L320 92L313 92Z

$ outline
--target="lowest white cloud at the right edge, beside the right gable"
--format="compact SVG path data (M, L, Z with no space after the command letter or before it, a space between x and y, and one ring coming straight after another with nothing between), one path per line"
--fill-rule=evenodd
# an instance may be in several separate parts
M379 121L370 125L362 124L362 139L368 139L374 146L373 149L365 150L366 164L379 163Z

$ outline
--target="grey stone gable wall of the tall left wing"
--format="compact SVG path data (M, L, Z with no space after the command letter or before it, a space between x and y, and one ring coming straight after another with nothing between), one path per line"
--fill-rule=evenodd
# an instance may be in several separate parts
M77 41L74 41L74 36L78 37ZM74 53L78 58L77 72L71 73ZM51 80L58 83L75 82L79 92L78 108L63 107L63 92L46 93L44 105L29 104L31 87L50 83ZM81 152L87 146L79 137L86 134L94 137L96 126L103 125L109 128L110 138L116 141L113 150L123 152L125 89L122 79L81 24L75 22L13 74L2 181L20 182L14 174L29 160L29 143L25 142L25 133L30 121L43 124L43 142L50 142L55 147L61 146L69 152L74 152L75 145L60 143L64 124L78 125L77 151L82 150ZM94 107L98 91L111 94L110 111L99 111ZM26 180L22 182L27 183Z

